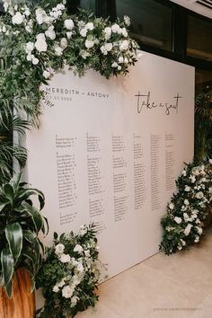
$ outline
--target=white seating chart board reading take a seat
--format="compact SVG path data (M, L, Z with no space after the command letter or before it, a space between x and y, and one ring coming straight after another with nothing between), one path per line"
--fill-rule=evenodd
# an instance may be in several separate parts
M27 148L47 240L95 223L114 276L158 251L161 216L193 156L194 68L144 52L126 78L67 71L42 89L54 105Z

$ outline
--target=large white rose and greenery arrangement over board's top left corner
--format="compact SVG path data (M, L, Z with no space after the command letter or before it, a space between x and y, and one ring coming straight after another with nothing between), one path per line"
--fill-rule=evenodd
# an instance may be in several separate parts
M110 22L84 10L68 15L64 0L3 3L0 56L6 66L0 85L14 95L15 107L27 110L30 119L41 112L40 84L47 84L64 66L76 75L93 68L109 78L128 74L128 66L137 61L138 45L128 35L128 17Z

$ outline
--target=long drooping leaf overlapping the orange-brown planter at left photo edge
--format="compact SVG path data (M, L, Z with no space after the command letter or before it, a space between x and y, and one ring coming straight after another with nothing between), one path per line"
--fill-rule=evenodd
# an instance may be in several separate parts
M4 287L7 295L12 296L12 280L14 273L13 255L8 248L4 248L1 252L2 276L4 280Z

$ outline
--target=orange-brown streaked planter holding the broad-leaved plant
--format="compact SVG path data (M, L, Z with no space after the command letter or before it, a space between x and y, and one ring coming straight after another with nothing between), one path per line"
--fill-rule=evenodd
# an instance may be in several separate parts
M13 279L13 297L8 298L0 288L0 318L34 318L35 298L31 293L31 277L23 269L16 270Z

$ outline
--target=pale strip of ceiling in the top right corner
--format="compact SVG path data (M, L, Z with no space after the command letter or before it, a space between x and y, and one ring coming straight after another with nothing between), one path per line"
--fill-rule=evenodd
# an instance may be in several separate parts
M212 19L212 0L170 0L180 4L196 13L208 16Z

